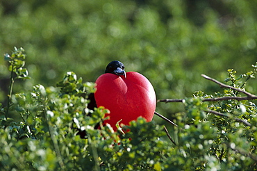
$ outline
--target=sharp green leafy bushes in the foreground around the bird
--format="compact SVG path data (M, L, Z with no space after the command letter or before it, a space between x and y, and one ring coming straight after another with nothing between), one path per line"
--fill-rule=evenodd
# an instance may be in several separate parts
M176 113L174 145L163 126L138 118L123 131L94 129L108 109L86 108L94 83L67 72L56 86L36 85L12 95L15 81L28 79L24 49L5 54L10 86L7 106L0 113L0 170L256 170L257 108L231 88L206 95L195 92L183 100L185 112ZM244 90L253 70L240 76L229 70L226 82ZM169 105L169 104L166 104ZM214 111L214 112L213 112ZM15 122L10 112L22 117ZM219 113L219 115L215 115ZM90 115L90 117L89 117ZM127 132L126 130L129 129ZM87 131L86 138L77 135ZM126 132L126 133L124 133Z

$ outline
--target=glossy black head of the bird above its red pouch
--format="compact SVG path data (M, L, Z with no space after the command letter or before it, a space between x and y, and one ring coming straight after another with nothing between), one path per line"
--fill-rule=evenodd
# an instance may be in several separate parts
M123 63L119 62L118 60L114 60L107 65L105 73L123 75L126 79L126 72L124 68Z

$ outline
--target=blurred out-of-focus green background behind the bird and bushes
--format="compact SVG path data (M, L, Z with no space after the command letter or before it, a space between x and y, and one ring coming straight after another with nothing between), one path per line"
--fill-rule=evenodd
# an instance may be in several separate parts
M95 81L111 60L126 72L140 72L153 84L157 99L192 97L197 90L222 91L201 78L224 81L256 63L257 1L0 1L0 101L8 90L3 54L25 49L29 76L15 92L35 84L56 86L68 71ZM247 86L256 93L256 81ZM182 104L157 104L172 118Z

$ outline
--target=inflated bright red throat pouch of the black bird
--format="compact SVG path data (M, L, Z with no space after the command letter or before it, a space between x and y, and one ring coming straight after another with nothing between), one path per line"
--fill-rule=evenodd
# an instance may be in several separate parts
M94 93L97 107L103 106L110 113L110 124L117 131L116 124L129 125L132 120L144 117L151 122L156 110L156 93L150 81L138 72L127 72L124 76L115 74L102 74L96 81L97 91Z

